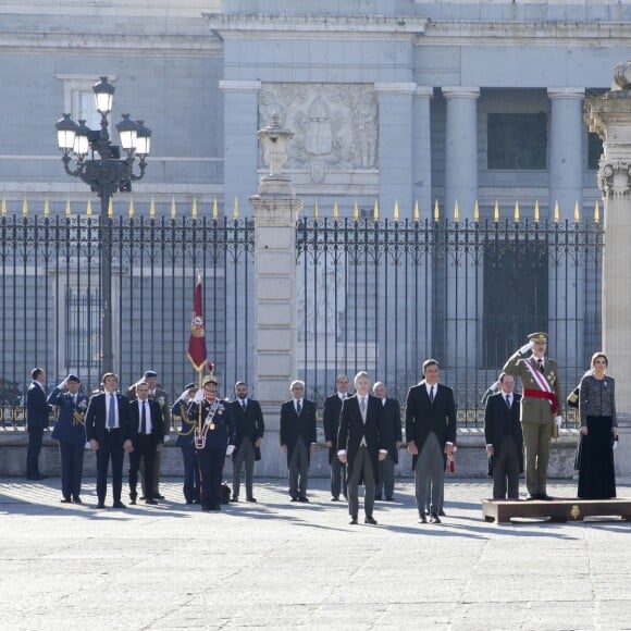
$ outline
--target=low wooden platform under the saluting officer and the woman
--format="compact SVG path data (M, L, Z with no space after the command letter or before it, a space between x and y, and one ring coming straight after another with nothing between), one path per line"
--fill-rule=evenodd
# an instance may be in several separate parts
M631 521L631 499L483 499L482 519L507 523L514 518L580 521L585 517L620 517Z

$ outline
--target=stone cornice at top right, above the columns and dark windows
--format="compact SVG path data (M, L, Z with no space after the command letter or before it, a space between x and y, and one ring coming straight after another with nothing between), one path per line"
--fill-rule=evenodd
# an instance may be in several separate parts
M429 21L428 27L417 44L435 45L436 39L453 39L458 44L480 45L506 44L507 40L528 40L537 45L558 46L560 40L589 42L592 46L602 42L613 44L619 40L628 45L631 22L473 22L473 21ZM431 41L430 41L431 40ZM467 41L470 40L470 41Z

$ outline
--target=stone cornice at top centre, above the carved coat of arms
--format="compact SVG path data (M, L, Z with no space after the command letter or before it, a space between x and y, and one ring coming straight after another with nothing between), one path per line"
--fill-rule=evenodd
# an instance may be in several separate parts
M293 15L293 14L225 14L202 13L211 30L221 35L231 32L274 33L287 32L299 33L343 33L379 35L422 34L429 18L413 15Z

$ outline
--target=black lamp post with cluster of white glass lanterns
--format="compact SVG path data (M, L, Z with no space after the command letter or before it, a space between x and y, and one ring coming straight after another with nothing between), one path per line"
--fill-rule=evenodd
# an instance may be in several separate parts
M108 115L112 111L114 86L102 76L95 84L97 110L101 114L101 128L92 131L85 121L78 125L64 114L57 122L57 139L63 151L61 157L65 172L79 177L89 185L92 193L101 199L99 221L101 264L101 371L110 372L114 368L112 345L112 231L109 208L114 193L128 193L132 182L140 180L147 168L147 156L151 144L151 131L145 127L144 121L132 121L129 114L116 125L121 147L126 158L121 158L121 147L112 145L108 134ZM88 158L88 153L90 154ZM98 158L96 157L98 154ZM138 173L134 164L138 158ZM71 168L75 160L74 169Z

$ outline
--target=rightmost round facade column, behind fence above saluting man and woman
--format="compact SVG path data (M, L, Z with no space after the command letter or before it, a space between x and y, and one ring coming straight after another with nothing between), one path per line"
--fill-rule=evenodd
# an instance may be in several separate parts
M583 206L583 88L548 88L552 104L549 136L549 215L554 219L558 202L559 216L573 221L574 207ZM584 342L585 270L560 265L550 257L548 282L548 333L550 350L564 368L579 368ZM567 383L566 387L573 387Z

